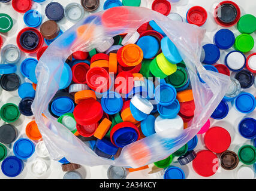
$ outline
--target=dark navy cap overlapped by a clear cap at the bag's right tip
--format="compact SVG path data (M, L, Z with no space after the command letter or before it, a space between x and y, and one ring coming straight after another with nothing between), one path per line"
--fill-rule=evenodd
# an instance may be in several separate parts
M248 70L237 72L234 78L239 81L241 88L243 89L249 88L254 84L254 74Z

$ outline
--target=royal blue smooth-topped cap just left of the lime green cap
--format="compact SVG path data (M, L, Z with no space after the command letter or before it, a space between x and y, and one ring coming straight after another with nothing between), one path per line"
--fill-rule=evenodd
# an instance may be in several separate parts
M234 33L228 29L221 29L213 37L214 44L222 50L227 50L234 44Z

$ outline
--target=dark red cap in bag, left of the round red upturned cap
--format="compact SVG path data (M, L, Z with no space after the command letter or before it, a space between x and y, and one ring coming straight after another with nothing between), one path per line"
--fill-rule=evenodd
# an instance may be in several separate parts
M86 63L80 62L72 66L72 80L77 84L86 84L86 73L90 66Z

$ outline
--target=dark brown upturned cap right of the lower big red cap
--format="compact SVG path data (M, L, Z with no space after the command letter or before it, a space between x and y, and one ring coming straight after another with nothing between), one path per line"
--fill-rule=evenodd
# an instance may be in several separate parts
M233 170L239 164L239 158L237 154L231 150L226 150L219 156L221 159L221 167L225 170Z

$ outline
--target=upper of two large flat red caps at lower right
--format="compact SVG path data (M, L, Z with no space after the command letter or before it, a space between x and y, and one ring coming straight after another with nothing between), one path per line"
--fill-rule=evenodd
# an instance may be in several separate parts
M231 137L227 130L222 127L212 127L204 135L204 144L207 149L215 153L222 153L228 149Z

